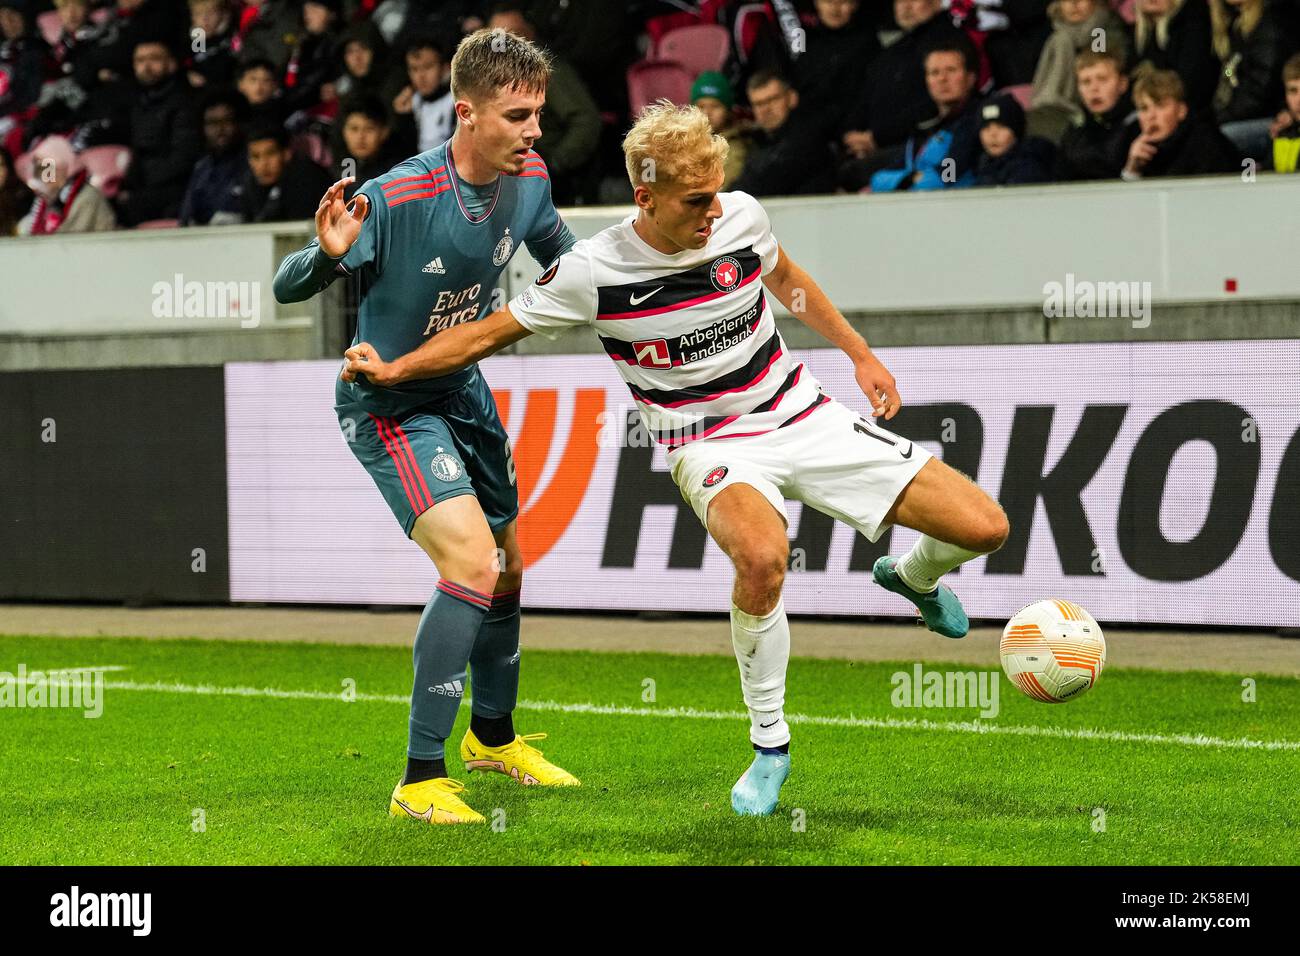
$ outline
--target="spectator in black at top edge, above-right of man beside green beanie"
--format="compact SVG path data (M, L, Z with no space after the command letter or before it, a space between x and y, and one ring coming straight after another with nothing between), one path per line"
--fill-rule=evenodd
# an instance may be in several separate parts
M816 23L805 31L805 52L794 60L792 78L810 122L836 139L849 111L867 86L867 70L880 42L858 0L816 0Z

